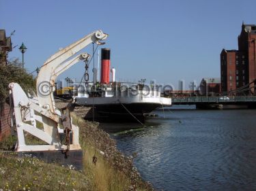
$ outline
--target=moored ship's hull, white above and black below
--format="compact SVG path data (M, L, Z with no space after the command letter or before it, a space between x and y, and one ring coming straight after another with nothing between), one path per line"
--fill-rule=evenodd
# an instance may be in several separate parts
M156 93L155 93L156 95ZM147 96L122 95L113 97L76 97L76 105L92 107L85 118L104 119L111 121L134 120L144 122L147 114L158 107L171 106L171 99Z

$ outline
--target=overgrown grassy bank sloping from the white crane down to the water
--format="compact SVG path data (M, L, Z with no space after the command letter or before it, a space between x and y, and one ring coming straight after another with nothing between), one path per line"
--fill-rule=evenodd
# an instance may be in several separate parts
M98 128L73 115L80 128L83 171L59 164L46 164L14 152L0 153L0 190L153 190L132 165L132 158L116 149L115 141ZM6 139L1 147L12 147ZM96 154L96 164L92 158Z

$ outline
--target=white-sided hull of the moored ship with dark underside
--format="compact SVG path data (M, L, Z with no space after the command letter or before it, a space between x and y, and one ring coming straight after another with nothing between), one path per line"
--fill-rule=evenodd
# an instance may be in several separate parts
M160 97L158 91L146 93L140 90L137 94L130 91L104 91L100 97L99 94L79 94L74 99L78 106L94 107L96 118L136 117L145 120L145 116L154 109L171 106L171 99Z

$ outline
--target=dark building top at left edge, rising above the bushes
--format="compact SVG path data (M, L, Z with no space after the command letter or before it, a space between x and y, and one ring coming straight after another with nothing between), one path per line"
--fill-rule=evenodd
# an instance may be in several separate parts
M11 37L6 37L5 30L0 29L0 65L6 65L10 51L12 51Z

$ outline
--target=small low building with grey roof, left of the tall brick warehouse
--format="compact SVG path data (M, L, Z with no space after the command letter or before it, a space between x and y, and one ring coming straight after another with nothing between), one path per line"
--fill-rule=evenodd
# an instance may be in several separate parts
M200 83L200 93L203 95L219 94L221 92L221 79L219 77L203 77Z

